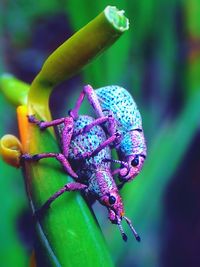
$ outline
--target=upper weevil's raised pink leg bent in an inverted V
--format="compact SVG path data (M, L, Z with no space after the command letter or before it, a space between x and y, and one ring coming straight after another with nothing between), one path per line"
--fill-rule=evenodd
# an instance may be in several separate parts
M91 85L86 85L84 86L83 91L80 93L79 98L75 104L74 109L72 109L70 111L70 115L76 119L78 117L78 112L80 109L80 106L84 100L85 95L88 98L89 103L91 104L91 106L94 108L94 110L96 111L97 115L99 117L104 117L101 105L99 103L98 97L95 93L95 90L92 88Z

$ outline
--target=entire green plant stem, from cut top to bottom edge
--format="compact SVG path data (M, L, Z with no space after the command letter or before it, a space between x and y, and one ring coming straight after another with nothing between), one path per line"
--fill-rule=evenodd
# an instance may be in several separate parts
M128 21L123 14L108 7L61 45L46 60L31 85L28 113L50 120L49 96L54 86L79 71L113 44L126 29ZM24 151L30 154L59 151L52 131L41 133L35 125L27 125L23 140ZM71 181L55 159L26 163L24 171L33 212ZM56 200L37 223L37 232L40 240L36 246L38 266L112 266L99 227L78 193L66 193Z

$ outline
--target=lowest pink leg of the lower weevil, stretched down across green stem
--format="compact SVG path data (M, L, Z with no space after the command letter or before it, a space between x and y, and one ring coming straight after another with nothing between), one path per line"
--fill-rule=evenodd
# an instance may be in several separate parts
M71 191L85 191L87 189L87 185L81 183L68 183L64 185L60 190L58 190L55 194L53 194L43 205L42 207L35 212L36 218L41 217L41 215L50 207L51 203L56 200L59 196L61 196L65 192Z

